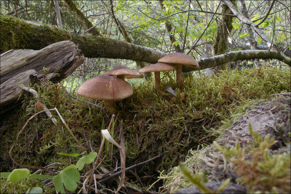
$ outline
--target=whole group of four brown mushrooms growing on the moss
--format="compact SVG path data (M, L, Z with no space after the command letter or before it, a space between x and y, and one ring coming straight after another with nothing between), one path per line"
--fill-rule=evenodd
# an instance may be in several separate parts
M117 66L103 75L88 79L79 87L78 95L104 100L108 111L113 113L116 108L115 100L121 100L133 94L132 87L124 78L143 78L141 73L155 72L156 89L161 90L160 72L176 70L177 83L181 84L183 80L182 65L199 67L197 61L189 55L171 53L160 58L158 63L141 68L139 72L124 66Z

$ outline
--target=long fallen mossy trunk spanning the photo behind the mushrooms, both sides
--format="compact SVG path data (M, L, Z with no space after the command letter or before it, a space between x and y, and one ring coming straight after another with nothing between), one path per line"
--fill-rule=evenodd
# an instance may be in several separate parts
M1 15L1 53L9 49L42 49L47 45L62 40L74 42L85 57L88 58L120 58L148 63L157 63L166 55L152 48L135 45L111 38L79 35L54 26L21 20L16 17ZM246 59L278 59L290 66L290 58L285 57L280 51L232 51L210 58L198 59L199 70L230 61ZM197 69L184 66L183 72Z

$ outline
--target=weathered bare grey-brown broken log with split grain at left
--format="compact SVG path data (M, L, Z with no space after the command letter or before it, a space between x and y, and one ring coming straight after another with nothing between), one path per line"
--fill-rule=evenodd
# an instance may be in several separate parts
M17 102L20 84L44 77L61 81L84 62L82 51L71 41L61 41L41 50L9 50L1 54L1 113ZM9 106L11 108L13 106Z

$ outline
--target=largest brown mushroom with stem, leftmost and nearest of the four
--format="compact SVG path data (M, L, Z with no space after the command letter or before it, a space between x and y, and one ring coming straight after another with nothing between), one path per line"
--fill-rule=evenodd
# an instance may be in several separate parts
M100 75L88 79L78 89L78 95L86 98L104 100L110 113L115 110L115 100L127 98L133 94L132 87L123 79Z

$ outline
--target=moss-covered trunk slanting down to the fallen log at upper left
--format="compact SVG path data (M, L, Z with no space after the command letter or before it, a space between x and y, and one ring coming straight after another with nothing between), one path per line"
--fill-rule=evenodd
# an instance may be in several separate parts
M82 22L85 22L87 29L89 29L89 28L91 28L91 27L94 26L94 25L93 25L93 24L88 20L88 18L84 15L84 13L83 13L81 10L79 10L79 9L77 8L77 6L76 6L76 4L74 3L74 1L68 1L68 0L65 0L64 2L68 5L68 7L69 7L70 10L72 10L73 12L76 12L76 13L77 13L79 19L81 19ZM96 27L93 28L93 29L91 29L91 30L89 31L89 33L91 33L93 36L102 36L102 35L100 34L99 30L98 30Z

